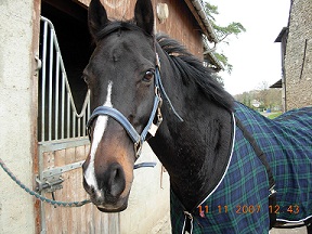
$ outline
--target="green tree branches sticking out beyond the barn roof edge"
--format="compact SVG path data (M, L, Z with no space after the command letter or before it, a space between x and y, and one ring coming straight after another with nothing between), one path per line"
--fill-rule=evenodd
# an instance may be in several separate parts
M246 31L245 27L238 22L232 22L226 26L220 26L217 24L214 16L219 14L218 6L210 4L209 2L205 2L205 12L211 23L211 26L214 29L214 32L220 42L229 44L226 38L229 36L238 36L240 32ZM229 63L226 55L219 52L213 52L214 56L223 64L224 68L227 73L231 74L233 66Z

